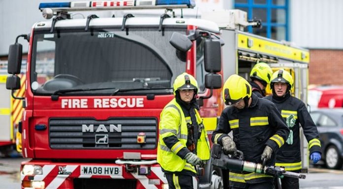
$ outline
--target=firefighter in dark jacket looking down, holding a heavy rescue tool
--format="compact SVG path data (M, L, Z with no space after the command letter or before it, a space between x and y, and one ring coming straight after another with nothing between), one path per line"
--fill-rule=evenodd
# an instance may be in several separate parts
M248 162L274 165L275 152L284 144L289 129L275 105L253 94L244 78L232 75L224 83L226 105L212 141L221 144L225 154L240 150ZM233 132L233 138L228 133ZM273 176L230 171L231 189L273 189Z

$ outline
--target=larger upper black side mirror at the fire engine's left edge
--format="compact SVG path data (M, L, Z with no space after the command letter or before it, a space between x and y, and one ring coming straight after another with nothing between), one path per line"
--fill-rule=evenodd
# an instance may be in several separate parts
M20 43L15 43L9 46L8 66L7 66L7 72L9 74L20 74L22 55L23 55L23 46ZM6 86L7 86L7 82L6 82Z

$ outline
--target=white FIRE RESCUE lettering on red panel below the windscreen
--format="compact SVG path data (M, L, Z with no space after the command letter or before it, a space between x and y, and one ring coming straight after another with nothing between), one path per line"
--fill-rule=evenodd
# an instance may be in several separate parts
M93 108L142 108L143 98L94 99ZM92 105L90 105L92 106ZM62 108L89 108L88 99L62 99Z

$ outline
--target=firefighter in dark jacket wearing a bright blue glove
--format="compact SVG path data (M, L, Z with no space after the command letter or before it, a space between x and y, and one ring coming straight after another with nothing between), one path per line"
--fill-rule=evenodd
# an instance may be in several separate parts
M316 163L321 158L321 146L317 127L313 123L306 105L299 99L291 96L293 78L285 70L274 72L271 89L273 95L265 97L272 101L290 129L285 145L277 151L276 166L283 166L287 171L301 171L300 153L300 126L309 141L310 159ZM284 177L281 179L282 189L299 189L299 179Z

